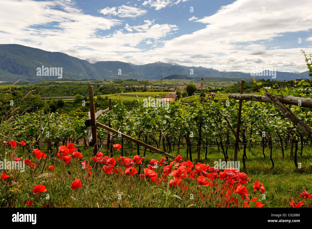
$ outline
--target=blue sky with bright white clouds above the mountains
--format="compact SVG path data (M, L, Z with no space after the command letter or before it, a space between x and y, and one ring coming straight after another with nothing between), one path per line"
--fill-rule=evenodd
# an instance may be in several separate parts
M0 0L0 44L80 59L307 71L307 0Z

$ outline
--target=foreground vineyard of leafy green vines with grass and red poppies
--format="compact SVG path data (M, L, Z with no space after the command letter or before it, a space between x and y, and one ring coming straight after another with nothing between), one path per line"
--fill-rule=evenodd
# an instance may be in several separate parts
M309 83L301 83L261 90L312 98ZM237 163L232 163L239 103L220 96L170 102L168 109L136 100L129 110L117 100L96 119L116 133L98 125L95 153L88 144L87 116L44 109L41 116L39 111L10 116L1 122L1 160L27 166L24 173L2 169L0 205L311 207L311 139L272 103L244 101ZM312 126L310 108L287 106Z

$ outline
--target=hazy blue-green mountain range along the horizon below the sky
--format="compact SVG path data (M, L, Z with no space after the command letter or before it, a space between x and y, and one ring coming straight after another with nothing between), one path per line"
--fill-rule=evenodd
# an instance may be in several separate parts
M251 78L250 73L217 71L212 68L182 66L176 63L154 62L135 65L121 61L81 60L61 52L49 52L17 44L0 45L0 81L40 81L57 76L37 76L37 68L62 68L62 78L69 79L160 79L161 76L187 75L190 77ZM190 74L193 69L193 74ZM302 78L309 78L308 71ZM275 80L298 79L297 72L276 72ZM271 76L256 76L271 79Z

